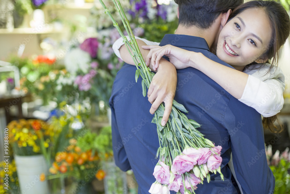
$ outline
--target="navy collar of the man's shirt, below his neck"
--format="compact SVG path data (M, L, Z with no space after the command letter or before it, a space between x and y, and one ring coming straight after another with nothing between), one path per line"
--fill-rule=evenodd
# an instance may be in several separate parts
M160 46L164 45L205 49L209 51L209 45L207 44L206 40L197 36L166 34L160 42Z

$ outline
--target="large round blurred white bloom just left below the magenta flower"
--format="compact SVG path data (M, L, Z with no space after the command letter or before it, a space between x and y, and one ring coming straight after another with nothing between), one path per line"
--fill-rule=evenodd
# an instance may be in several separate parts
M75 74L79 69L87 73L90 61L91 58L89 53L82 51L80 48L73 48L66 54L64 65L66 66L66 70L71 74Z

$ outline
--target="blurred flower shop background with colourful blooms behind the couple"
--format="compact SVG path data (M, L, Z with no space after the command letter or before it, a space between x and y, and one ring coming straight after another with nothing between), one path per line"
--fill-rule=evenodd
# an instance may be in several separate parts
M173 0L121 3L135 36L159 42L177 28ZM119 37L98 0L0 1L0 194L137 193L133 172L113 161L108 99L123 65L112 49ZM288 40L285 130L265 130L276 193L290 191L289 52Z

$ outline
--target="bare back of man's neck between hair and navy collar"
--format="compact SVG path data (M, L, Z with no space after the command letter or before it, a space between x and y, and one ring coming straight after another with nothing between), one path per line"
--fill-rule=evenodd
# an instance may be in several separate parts
M197 26L185 27L179 25L175 34L189 35L189 36L197 36L200 38L204 38L209 45L209 48L213 45L215 36L213 36L213 31L211 29L200 29Z

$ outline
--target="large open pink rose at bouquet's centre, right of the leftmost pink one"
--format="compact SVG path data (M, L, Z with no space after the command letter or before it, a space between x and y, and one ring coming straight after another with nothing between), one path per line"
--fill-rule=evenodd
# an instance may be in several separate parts
M186 155L179 155L173 160L171 171L174 174L181 175L184 172L192 170L195 164L197 164L197 162L193 158Z

